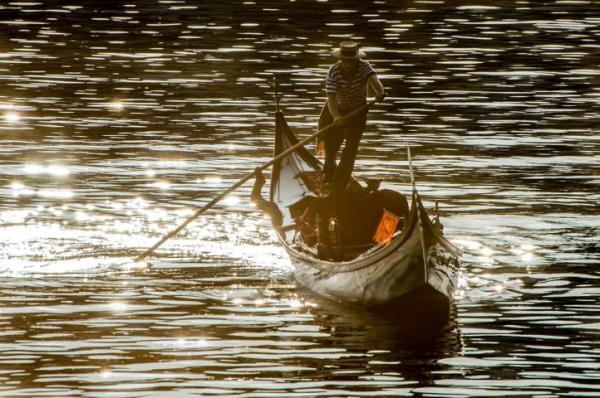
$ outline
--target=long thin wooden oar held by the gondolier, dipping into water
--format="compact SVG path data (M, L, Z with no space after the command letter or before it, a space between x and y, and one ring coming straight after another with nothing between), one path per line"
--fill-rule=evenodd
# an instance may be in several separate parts
M357 114L359 114L361 112L364 112L365 110L367 110L374 103L375 103L375 100L370 101L370 102L366 103L365 105L361 106L360 108L357 108L357 109L353 110L352 112L350 112L347 115L345 115L344 117L342 117L342 121L348 120L352 116L355 116L355 115L357 115ZM194 214L192 214L187 220L185 220L181 225L179 225L177 228L175 228L174 230L172 230L171 232L169 232L168 234L166 234L165 236L163 236L158 242L156 242L154 244L154 246L152 246L151 248L149 248L148 250L146 250L145 252L143 252L142 254L140 254L135 259L135 261L136 262L137 261L143 261L146 257L150 256L152 253L154 253L154 251L156 249L158 249L158 247L160 245L162 245L163 243L165 243L167 240L169 240L173 236L177 235L177 233L179 233L179 231L181 231L182 229L184 229L189 223L191 223L192 221L194 221L196 218L200 217L200 215L202 215L208 209L210 209L211 207L213 207L214 205L216 205L225 196L229 195L231 192L235 191L240 186L242 186L246 181L248 181L249 179L251 179L252 177L254 177L256 171L263 171L263 170L265 170L266 168L268 168L269 166L271 166L273 163L275 163L275 162L277 162L277 161L285 158L290 153L292 153L292 152L296 151L297 149L303 147L304 144L307 144L308 142L314 140L318 136L325 134L326 132L328 132L329 130L333 129L334 127L335 126L333 124L330 124L330 125L322 128L321 130L317 131L313 135L311 135L309 137L306 137L302 141L298 142L296 145L294 145L294 146L286 149L285 151L281 152L279 155L277 155L273 159L269 160L267 163L264 163L262 166L260 166L257 169L255 169L255 171L246 174L238 182L236 182L235 184L233 184L231 187L229 187L225 191L221 192L213 200L211 200L210 202L208 202L207 204L205 204L204 206L202 206L200 209L196 210L196 212Z

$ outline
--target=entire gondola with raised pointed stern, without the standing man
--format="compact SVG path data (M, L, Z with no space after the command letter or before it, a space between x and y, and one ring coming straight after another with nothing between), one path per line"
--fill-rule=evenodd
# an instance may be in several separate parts
M278 110L274 158L297 143L283 112ZM321 236L315 237L316 243L306 238L302 218L311 212L311 207L315 208L315 203L332 200L323 199L321 169L321 163L304 147L273 163L269 203L278 210L277 235L295 267L297 281L321 296L365 307L382 306L414 295L449 303L456 285L460 252L445 239L439 222L434 224L430 220L414 184L410 209L406 209L405 214L386 211L390 207L402 208L399 199L393 203L383 201L376 209L381 214L377 232L385 227L386 214L399 221L389 231L391 235L387 240L363 241L362 245L352 247L335 244L335 236L341 236L348 226L339 223L340 217L331 213L321 215L321 218L329 217L325 220L319 220L317 214L315 224L329 226L325 228L329 245L337 247L323 253L319 250ZM350 217L354 220L351 228L359 234L370 233L366 230L372 228L373 206L368 197L382 191L365 187L354 179L349 186L354 197L362 195L363 198L362 202L358 200ZM364 209L369 206L371 211L366 214L369 211ZM396 210L396 213L401 212ZM364 220L362 225L361 220ZM318 229L319 225L314 228ZM314 233L323 234L318 230Z

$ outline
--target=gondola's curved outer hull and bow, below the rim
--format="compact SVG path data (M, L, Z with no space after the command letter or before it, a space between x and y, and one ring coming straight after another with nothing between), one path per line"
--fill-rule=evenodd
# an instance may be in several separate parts
M418 198L413 201L414 208L419 207L417 201ZM428 219L423 220L426 225L421 234L415 212L411 212L404 232L389 247L350 262L319 260L282 242L294 265L296 280L329 299L368 307L422 290L450 301L457 280L458 253L428 228L434 228L427 225Z

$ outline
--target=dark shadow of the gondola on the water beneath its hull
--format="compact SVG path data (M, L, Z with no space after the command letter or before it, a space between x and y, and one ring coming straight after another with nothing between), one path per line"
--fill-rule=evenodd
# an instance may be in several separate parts
M438 360L463 348L456 306L443 300L425 302L423 295L376 309L338 303L306 288L299 294L316 304L315 322L331 336L331 346L349 351L384 353L387 371L400 371L409 380L428 384L440 370ZM392 368L390 369L390 365Z

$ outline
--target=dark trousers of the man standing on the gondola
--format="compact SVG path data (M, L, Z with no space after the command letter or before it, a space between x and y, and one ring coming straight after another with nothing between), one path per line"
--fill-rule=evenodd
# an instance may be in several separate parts
M352 112L353 109L342 110L340 113L342 116ZM333 117L329 112L327 103L321 110L319 116L318 128L328 126L333 122ZM354 169L354 160L356 159L356 153L358 151L358 143L362 137L363 131L367 126L367 110L360 112L356 116L352 116L350 119L338 128L328 131L325 133L325 165L323 166L324 171L324 182L333 183L340 186L346 186L350 181L352 170ZM337 153L342 146L342 143L346 141L342 155L340 157L339 165L336 164Z

